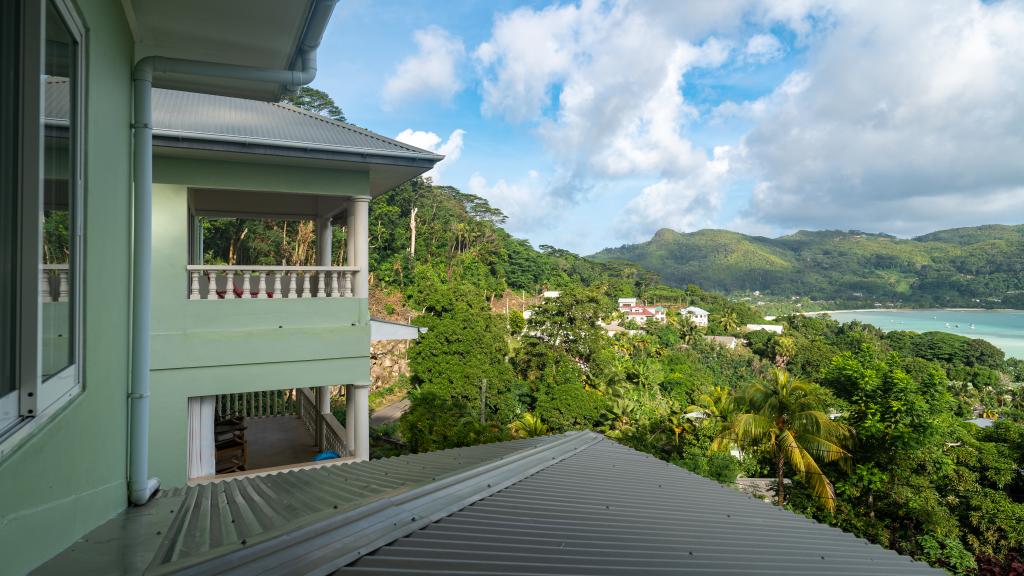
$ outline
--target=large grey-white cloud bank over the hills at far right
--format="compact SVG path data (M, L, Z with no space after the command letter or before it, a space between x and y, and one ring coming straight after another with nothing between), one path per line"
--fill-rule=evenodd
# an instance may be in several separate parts
M728 113L759 179L746 217L903 235L1024 219L1024 6L836 7L794 82Z

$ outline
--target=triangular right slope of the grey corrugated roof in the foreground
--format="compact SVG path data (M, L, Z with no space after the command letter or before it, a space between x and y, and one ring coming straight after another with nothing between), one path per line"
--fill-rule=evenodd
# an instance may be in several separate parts
M605 439L337 573L941 572Z

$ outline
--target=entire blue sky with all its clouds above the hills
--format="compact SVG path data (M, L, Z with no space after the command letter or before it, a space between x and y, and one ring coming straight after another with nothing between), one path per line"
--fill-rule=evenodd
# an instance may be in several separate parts
M346 0L314 86L535 245L912 236L1024 221L1022 38L1010 0Z

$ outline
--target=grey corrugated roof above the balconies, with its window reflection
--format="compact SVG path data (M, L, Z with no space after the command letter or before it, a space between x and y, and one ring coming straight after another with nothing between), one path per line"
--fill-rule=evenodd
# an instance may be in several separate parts
M47 80L46 117L66 121L69 115L68 82ZM331 120L285 104L229 96L153 89L154 136L167 146L175 138L225 141L244 138L267 147L311 145L339 152L366 155L398 154L434 161L442 157L370 130Z

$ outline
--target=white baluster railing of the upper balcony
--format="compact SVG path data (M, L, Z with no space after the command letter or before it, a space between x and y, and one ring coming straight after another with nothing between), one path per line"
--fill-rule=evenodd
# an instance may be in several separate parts
M187 265L188 299L350 298L357 266Z

